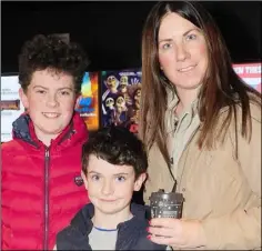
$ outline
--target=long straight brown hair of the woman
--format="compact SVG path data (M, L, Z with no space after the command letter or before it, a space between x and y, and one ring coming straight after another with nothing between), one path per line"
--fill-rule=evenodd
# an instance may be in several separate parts
M223 107L229 107L229 112L224 123L218 128L219 135L222 137L220 139L223 140L232 118L236 123L236 106L239 104L242 107L242 135L250 139L250 100L261 103L260 93L245 84L234 72L225 42L208 11L198 2L161 1L157 3L147 18L142 34L140 137L149 149L157 142L167 163L169 163L164 124L168 104L167 89L175 93L175 88L161 72L158 36L162 19L171 12L178 13L201 29L208 47L209 66L199 92L198 103L201 120L199 147L205 145L209 149L214 147L216 134L213 133L213 129L218 126L218 114Z

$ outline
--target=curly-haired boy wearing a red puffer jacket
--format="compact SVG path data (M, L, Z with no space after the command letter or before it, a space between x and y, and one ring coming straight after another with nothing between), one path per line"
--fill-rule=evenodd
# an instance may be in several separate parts
M74 103L88 60L82 49L36 36L19 57L27 112L2 145L1 249L48 250L56 234L89 202L81 180L88 130Z

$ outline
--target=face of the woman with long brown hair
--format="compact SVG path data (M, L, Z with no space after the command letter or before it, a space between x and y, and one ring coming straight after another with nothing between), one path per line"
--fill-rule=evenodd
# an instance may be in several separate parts
M159 62L165 77L180 90L196 89L208 68L203 33L179 14L168 13L159 29Z

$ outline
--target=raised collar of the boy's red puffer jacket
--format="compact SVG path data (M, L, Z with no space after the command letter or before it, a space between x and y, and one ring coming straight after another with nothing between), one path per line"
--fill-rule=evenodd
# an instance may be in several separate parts
M37 138L34 127L28 113L21 114L13 123L13 139L20 139L36 148L44 147ZM88 140L88 130L79 113L74 112L71 122L51 141L52 147L67 148Z

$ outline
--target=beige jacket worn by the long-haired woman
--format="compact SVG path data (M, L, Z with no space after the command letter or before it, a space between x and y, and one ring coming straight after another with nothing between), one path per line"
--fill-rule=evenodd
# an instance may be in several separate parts
M226 109L221 112L220 121L225 116ZM261 108L252 104L251 116L250 142L241 137L239 119L238 159L233 123L225 141L208 151L198 148L196 122L178 162L177 191L185 198L183 218L201 220L206 250L261 249ZM149 152L145 203L151 192L171 191L172 187L170 171L153 145Z

